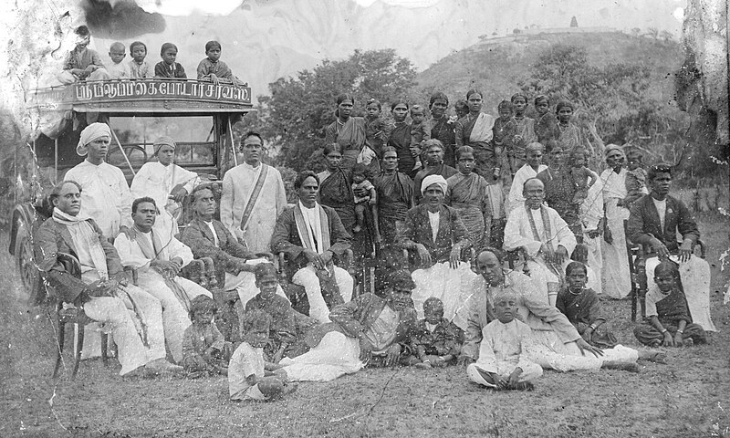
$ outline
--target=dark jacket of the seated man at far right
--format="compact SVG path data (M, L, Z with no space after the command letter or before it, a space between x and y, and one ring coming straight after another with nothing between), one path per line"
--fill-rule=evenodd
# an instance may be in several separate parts
M677 232L683 239L692 239L693 242L700 238L694 217L682 201L667 196L663 230L651 194L645 195L631 205L629 238L634 244L643 245L647 252L651 251L652 236L661 240L670 252L676 252L679 249Z

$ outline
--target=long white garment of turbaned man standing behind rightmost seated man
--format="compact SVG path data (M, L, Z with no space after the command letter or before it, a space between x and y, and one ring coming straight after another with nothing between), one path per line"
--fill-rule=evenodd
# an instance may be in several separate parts
M602 289L609 297L620 299L631 292L631 275L629 273L629 255L626 252L626 234L623 221L629 219L629 210L619 207L618 198L609 198L606 202L606 218L613 237L613 243L601 241L603 255Z

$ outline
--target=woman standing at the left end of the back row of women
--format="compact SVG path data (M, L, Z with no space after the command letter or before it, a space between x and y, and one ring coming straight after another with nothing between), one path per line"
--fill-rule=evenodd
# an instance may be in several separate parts
M365 145L365 119L352 117L355 99L348 94L337 97L337 120L325 128L327 144L337 143L342 151L341 167L349 170L357 162L358 155ZM377 160L377 159L376 159ZM347 225L346 225L347 226Z

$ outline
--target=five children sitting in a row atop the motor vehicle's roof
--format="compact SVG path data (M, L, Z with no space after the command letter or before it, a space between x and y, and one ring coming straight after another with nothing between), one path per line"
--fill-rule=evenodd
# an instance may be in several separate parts
M162 60L153 64L146 60L147 45L142 41L130 43L129 61L124 61L127 57L126 46L117 41L109 47L110 62L105 62L96 50L89 48L91 33L88 26L78 26L74 33L77 38L76 47L68 52L63 71L57 75L57 79L64 85L78 80L187 78L185 68L177 62L177 46L172 43L162 44ZM205 57L196 68L196 77L210 80L216 85L224 83L245 86L221 60L221 49L218 41L205 43Z

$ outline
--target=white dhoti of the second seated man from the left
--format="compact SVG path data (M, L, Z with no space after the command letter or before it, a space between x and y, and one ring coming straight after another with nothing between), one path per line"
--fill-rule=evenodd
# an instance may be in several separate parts
M164 278L157 271L153 269L140 269L137 279L139 287L160 300L160 304L162 305L162 326L164 327L167 346L170 349L173 360L176 362L183 360L183 335L185 329L190 327L191 324L188 311L183 307L183 303L175 297L172 289L167 287ZM176 276L175 281L183 287L185 294L187 294L190 300L193 300L194 297L199 295L213 297L213 294L208 290L187 278Z

